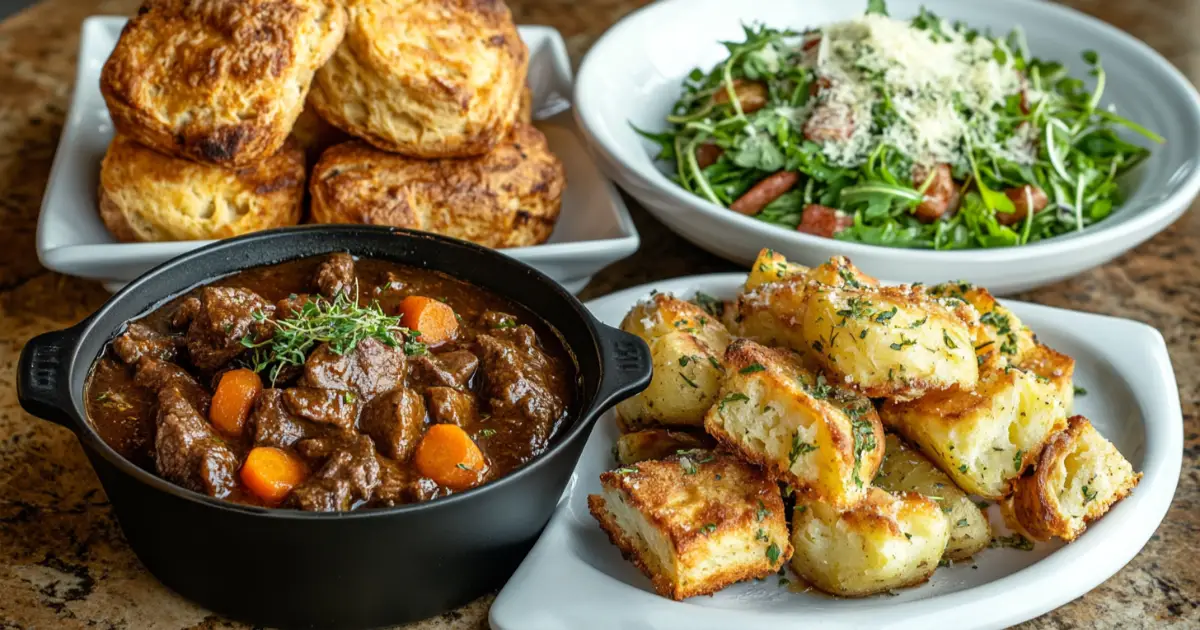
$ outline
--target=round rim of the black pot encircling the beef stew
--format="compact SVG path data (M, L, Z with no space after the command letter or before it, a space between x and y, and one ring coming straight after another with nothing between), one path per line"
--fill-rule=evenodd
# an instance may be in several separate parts
M220 510L227 510L227 511L232 511L232 512L239 512L239 514L242 514L242 515L246 515L246 516L266 517L266 518L286 518L286 520L302 520L302 521L336 521L336 520L347 520L347 518L356 520L356 518L373 518L373 517L384 517L384 516L401 516L401 515L409 515L409 514L414 514L415 515L415 514L421 514L421 512L427 512L427 511L436 511L436 510L450 509L450 508L452 508L452 506L455 506L457 504L461 504L461 503L464 503L464 502L469 502L469 500L474 499L475 497L480 497L480 496L485 494L486 492L488 492L490 490L498 490L498 488L504 487L505 485L516 484L521 479L523 479L524 476L538 474L538 472L540 469L542 469L544 467L547 466L547 462L551 458L557 457L570 443L572 443L572 442L575 442L577 439L586 439L587 436L590 433L592 425L593 425L593 421L595 420L595 418L599 416L604 410L606 410L608 408L608 406L605 404L606 396L605 396L605 391L604 391L605 390L604 385L605 385L605 382L606 382L606 374L605 374L605 365L604 365L604 347L602 347L604 344L601 343L601 340L604 337L602 329L604 328L611 328L611 326L606 326L604 324L600 324L590 314L590 312L588 312L587 307L584 307L583 304L578 301L577 298L575 298L574 295L571 295L566 289L564 289L557 282L554 282L553 280L551 280L548 276L546 276L541 271L539 271L539 270L536 270L536 269L527 265L526 263L522 263L522 262L516 260L514 258L509 258L508 256L504 256L499 251L491 250L491 248L487 248L487 247L484 247L481 245L476 245L476 244L473 244L473 242L469 242L469 241L452 239L452 238L449 238L449 236L443 236L443 235L432 234L432 233L427 233L427 232L419 232L419 230L410 230L410 229L394 228L394 227L358 226L358 224L353 224L353 226L350 226L350 224L346 224L346 226L331 226L331 224L299 226L299 227L288 227L288 228L281 228L281 229L256 232L256 233L247 234L247 235L244 235L244 236L238 236L238 238L233 238L233 239L226 239L226 240L216 241L214 244L210 244L210 245L206 245L206 246L192 250L191 252L187 252L185 254L178 256L178 257L175 257L175 258L173 258L170 260L167 260L167 262L164 262L164 263L155 266L154 269L150 269L145 274L138 276L138 278L134 280L133 282L130 282L125 288L122 288L115 295L113 295L112 298L109 298L109 300L106 301L104 305L101 306L95 313L92 313L91 316L89 316L84 320L79 322L74 326L71 326L70 329L67 329L67 332L71 334L71 342L70 342L71 343L71 347L70 347L71 349L70 349L70 353L71 353L71 359L72 359L71 364L70 364L70 367L67 370L67 374L66 374L68 377L68 380L71 383L74 382L74 379L70 378L70 377L73 376L76 373L76 371L79 370L79 368L84 368L88 372L90 372L91 368L92 368L92 366L94 366L94 364L95 364L95 361L100 358L100 355L86 358L85 365L83 365L82 361L80 361L82 356L79 356L79 354L80 354L80 347L83 346L83 342L85 340L95 336L95 335L103 335L104 338L107 340L108 336L114 332L113 330L98 331L98 329L96 328L97 326L97 322L100 319L102 319L102 317L103 317L104 313L107 313L108 311L113 310L113 307L115 305L120 304L120 301L124 300L127 295L131 295L131 294L138 292L144 284L146 284L148 282L150 282L152 278L160 277L160 276L163 276L163 275L169 275L169 274L174 272L174 270L176 270L179 268L182 268L182 266L187 265L188 263L191 263L191 262L193 262L193 260L196 260L198 258L208 258L208 257L211 257L211 256L217 256L218 252L230 251L230 250L233 250L233 251L244 250L244 248L252 247L256 242L260 242L260 241L264 241L264 240L274 240L274 239L284 239L284 240L287 240L287 239L293 239L293 238L300 238L302 235L311 234L311 233L341 233L342 235L347 235L348 234L348 235L352 235L352 236L356 235L356 234L360 234L360 235L364 235L364 236L367 236L367 238L378 236L380 234L388 234L389 238L396 238L396 239L422 239L422 240L427 240L427 241L436 241L436 242L440 244L439 246L442 246L442 247L457 247L457 248L464 248L464 250L474 250L475 252L479 252L479 253L481 253L484 256L488 256L488 257L491 257L491 258L493 258L493 259L496 259L498 262L503 260L502 264L510 265L510 266L517 266L517 268L524 268L526 271L532 272L533 280L535 282L538 282L539 284L541 284L544 289L550 290L553 294L557 294L557 296L559 299L565 300L566 304L571 306L571 308L578 316L578 318L582 322L582 324L586 326L588 336L590 337L590 340L592 340L592 342L593 342L593 344L595 347L595 355L596 355L596 362L598 362L596 367L599 368L600 377L599 377L599 379L596 382L595 391L592 391L590 396L588 396L584 401L582 401L580 410L577 412L577 415L576 415L576 418L575 418L575 420L572 422L574 426L571 426L565 433L562 433L558 437L558 439L556 439L554 442L552 442L551 445L546 448L545 451L542 451L541 454L539 454L535 457L533 457L529 462L522 464L521 467L516 468L515 470L505 474L504 476L502 476L499 479L494 479L494 480L488 481L486 484L482 484L482 485L480 485L478 487L470 488L470 490L468 490L466 492L456 492L456 493L450 494L448 497L439 497L439 498L436 498L436 499L431 499L431 500L426 500L426 502L419 502L419 503L406 503L406 504L402 504L402 505L394 505L394 506L390 506L390 508L370 508L370 509L359 509L359 510L337 511L337 512L310 512L310 511L304 511L304 510L288 510L288 509L281 509L281 508L264 508L264 506L257 506L257 505L245 505L245 504L239 504L239 503L229 502L229 500L226 500L226 499L220 499L220 498L216 498L216 497L210 497L208 494L203 494L200 492L196 492L193 490L188 490L188 488L185 488L185 487L179 486L176 484L173 484L173 482L170 482L170 481L168 481L168 480L166 480L166 479L163 479L163 478L161 478L161 476L158 476L158 475L156 475L156 474L154 474L154 473L151 473L151 472L149 472L149 470L146 470L146 469L137 466L137 464L134 464L133 462L131 462L126 457L121 456L115 450L113 450L113 448L107 442L104 442L103 438L100 437L100 434L96 432L95 427L88 420L88 418L86 418L86 404L84 404L84 401L83 401L83 395L84 395L83 390L82 389L80 390L76 390L76 388L72 385L70 388L70 394L71 394L70 402L71 402L71 407L70 408L64 408L64 410L67 412L67 414L71 416L72 428L76 430L74 432L76 432L76 436L79 438L79 440L83 442L84 445L88 446L89 449L91 449L91 450L96 451L97 454L100 454L101 456L103 456L109 463L112 463L114 467L116 467L120 472L122 472L122 473L132 476L133 479L137 479L138 481L142 481L143 484L148 484L148 485L150 485L151 487L154 487L154 488L156 488L158 491L168 492L170 494L174 494L175 497L179 497L179 498L193 502L193 503L200 503L200 504L204 504L204 505L206 505L209 508L215 508L215 509L220 509ZM344 250L330 250L329 253L332 253L334 251L344 251ZM352 252L352 254L353 254L353 252ZM295 260L295 259L299 259L299 258L306 258L306 257L310 257L310 256L320 256L320 254L311 254L310 253L310 254L304 254L304 256L289 256L289 257L284 257L284 258L281 258L281 259L277 259L277 260L274 260L274 262L264 262L262 264L256 264L256 265L246 266L246 268L242 268L242 269L253 269L254 266L265 266L265 265L270 265L270 264L280 264L280 263L286 263L286 262L289 262L289 260ZM358 256L358 254L354 254L354 256ZM402 264L412 264L412 263L402 263ZM433 268L428 268L428 269L433 269ZM433 269L433 270L437 271L437 269ZM233 271L233 272L238 272L238 271ZM226 275L228 275L228 274L226 274ZM190 284L190 286L186 286L186 287L179 287L178 289L175 289L175 290L168 293L167 295L157 299L156 301L151 302L151 305L148 306L146 310L142 311L142 313L144 314L144 313L148 313L148 312L150 312L150 311L152 311L155 308L158 308L164 302L169 301L170 299L173 299L173 298L175 298L175 296L178 296L178 295L180 295L180 294L182 294L182 293L185 293L187 290L191 290L191 289L193 289L196 287L200 287L200 286L208 284L208 283L210 283L210 282L212 282L212 281L215 281L215 280L217 280L220 277L224 277L224 276L223 275L222 276L212 276L212 277L208 277L208 278L205 278L205 280L203 280L200 282L197 282L197 283L193 283L193 284ZM468 282L468 281L462 281L462 282ZM484 287L480 287L480 288L484 288ZM526 308L530 308L529 305L522 304L522 302L520 302L520 301L517 301L517 300L515 300L512 298L509 298L502 290L496 290L496 289L491 289L491 288L485 288L485 290L492 290L493 293L496 293L498 295L502 295L502 296L504 296L506 299L516 301L517 304L521 304ZM562 332L558 331L559 326L554 325L552 322L548 322L548 320L546 323L550 324L551 328L553 328L556 330L556 332L558 332L559 335L562 335ZM578 372L580 371L578 353L574 352L574 349L571 349L570 354L572 355L572 358L576 361L576 371ZM84 378L84 383L86 383L86 377ZM616 401L607 401L607 402L616 402ZM80 410L82 410L82 413L80 413Z

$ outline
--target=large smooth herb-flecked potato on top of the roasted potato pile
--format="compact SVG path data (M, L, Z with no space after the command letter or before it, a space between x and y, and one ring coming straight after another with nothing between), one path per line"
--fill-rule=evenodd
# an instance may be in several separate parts
M803 337L823 368L871 397L916 398L979 378L967 324L910 287L812 290Z

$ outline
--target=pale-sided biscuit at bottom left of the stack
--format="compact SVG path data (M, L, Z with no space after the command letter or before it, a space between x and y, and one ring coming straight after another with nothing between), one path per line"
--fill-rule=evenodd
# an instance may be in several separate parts
M100 217L121 241L224 239L300 221L304 151L224 169L164 156L118 134L100 167Z

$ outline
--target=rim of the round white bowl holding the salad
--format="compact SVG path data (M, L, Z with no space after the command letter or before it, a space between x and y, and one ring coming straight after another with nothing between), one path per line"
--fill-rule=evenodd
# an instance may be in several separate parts
M582 92L590 85L595 79L593 74L599 72L596 66L601 64L600 58L604 54L606 47L613 46L613 41L619 38L625 30L630 29L632 24L640 19L646 19L650 14L666 11L666 7L674 5L685 5L690 0L659 0L652 2L641 8L637 8L624 18L613 24L604 35L596 40L595 44L584 55L583 61L580 64L580 70L575 78L575 112L576 116L580 119L580 128L587 136L588 143L595 148L595 150L604 154L605 161L618 168L625 176L636 180L640 185L653 188L659 193L664 193L671 198L672 202L682 204L691 210L700 211L704 215L712 216L718 221L731 223L740 229L750 230L756 233L762 238L774 238L774 239L790 239L793 245L797 246L811 246L821 247L828 246L829 241L834 239L827 239L823 236L815 236L811 234L805 234L802 232L788 230L780 228L779 226L772 226L770 223L764 223L752 217L743 216L737 212L730 211L727 208L721 208L712 202L701 199L695 194L688 193L685 190L676 185L673 181L666 179L661 172L654 169L658 174L656 179L648 178L643 174L640 168L635 168L622 160L619 156L619 150L614 148L614 143L608 142L608 138L599 137L593 133L592 127L598 114L594 112L592 104L583 98ZM1175 94L1183 100L1190 101L1192 107L1186 110L1181 110L1181 118L1190 122L1192 128L1200 128L1200 94L1192 83L1178 71L1170 61L1168 61L1157 50L1138 40L1133 35L1086 13L1076 11L1074 8L1045 2L1044 0L1002 0L1006 4L1027 8L1034 13L1038 11L1045 11L1051 14L1058 14L1063 18L1075 19L1087 24L1091 29L1098 30L1105 36L1110 37L1114 44L1126 47L1130 49L1132 55L1140 56L1148 61L1154 68L1157 68L1163 78L1175 89ZM1200 155L1200 145L1195 146L1193 154ZM653 158L652 158L653 160ZM1121 222L1105 222L1102 221L1094 226L1090 226L1082 232L1074 234L1062 234L1051 239L1043 241L1032 242L1028 245L1018 245L1009 247L992 247L992 248L973 248L973 250L925 250L925 248L910 248L910 247L893 247L888 245L871 245L865 242L854 241L836 241L841 253L848 257L854 257L858 254L871 256L878 254L880 251L896 251L902 252L911 262L922 263L1008 263L1022 258L1049 258L1055 256L1061 256L1072 251L1080 248L1086 248L1090 246L1097 246L1102 242L1116 239L1124 234L1135 234L1147 227L1153 226L1157 222L1163 221L1165 217L1176 212L1182 215L1187 211L1187 205L1200 193L1200 166L1192 163L1184 163L1176 169L1176 173L1181 169L1188 169L1187 176L1176 182L1172 186L1170 194L1160 199L1157 203L1148 204L1147 208L1136 215L1121 221ZM1175 179L1172 175L1171 179ZM632 193L631 193L632 194ZM635 197L637 197L635 194ZM641 200L641 199L638 199ZM644 203L644 202L643 202ZM649 205L649 204L647 204ZM1120 210L1120 209L1118 209ZM1165 227L1165 226L1164 226ZM1121 228L1121 229L1118 229Z

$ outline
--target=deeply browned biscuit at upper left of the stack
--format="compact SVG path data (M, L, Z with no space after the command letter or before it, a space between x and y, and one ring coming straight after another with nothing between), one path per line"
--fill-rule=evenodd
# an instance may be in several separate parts
M101 73L116 130L224 167L283 145L346 12L326 0L146 0Z

